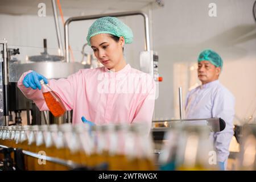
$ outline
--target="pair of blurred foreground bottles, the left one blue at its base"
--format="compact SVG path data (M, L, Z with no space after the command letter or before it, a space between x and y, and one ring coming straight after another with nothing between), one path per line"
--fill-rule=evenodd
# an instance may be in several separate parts
M218 170L217 155L209 135L208 126L173 124L164 136L166 142L159 156L160 169Z

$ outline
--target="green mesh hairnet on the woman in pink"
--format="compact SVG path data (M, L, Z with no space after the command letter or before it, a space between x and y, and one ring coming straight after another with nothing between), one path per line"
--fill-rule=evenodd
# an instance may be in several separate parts
M121 22L121 20L111 16L99 18L90 26L86 38L89 46L90 38L98 34L111 34L118 37L123 36L126 44L133 42L133 31L131 31L131 28Z

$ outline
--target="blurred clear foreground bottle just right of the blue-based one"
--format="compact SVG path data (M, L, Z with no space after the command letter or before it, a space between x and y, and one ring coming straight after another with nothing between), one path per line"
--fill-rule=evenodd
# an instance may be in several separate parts
M177 170L205 171L217 169L217 158L210 156L213 143L208 126L184 126L177 148Z

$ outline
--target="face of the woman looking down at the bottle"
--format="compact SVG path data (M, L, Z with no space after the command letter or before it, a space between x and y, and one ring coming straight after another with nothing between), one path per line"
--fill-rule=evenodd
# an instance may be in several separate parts
M90 44L94 55L108 69L114 69L123 59L123 37L115 42L109 34L98 34L90 38Z

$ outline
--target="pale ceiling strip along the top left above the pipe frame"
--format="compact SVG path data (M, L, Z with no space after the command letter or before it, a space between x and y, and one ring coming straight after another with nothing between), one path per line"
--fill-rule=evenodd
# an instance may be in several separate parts
M52 15L51 0L1 0L0 14L37 15L38 4L46 4L46 15ZM60 0L64 16L93 15L118 11L142 10L155 0ZM57 3L56 3L57 4Z

